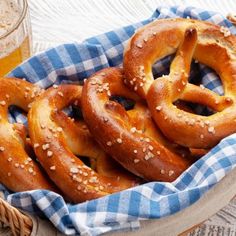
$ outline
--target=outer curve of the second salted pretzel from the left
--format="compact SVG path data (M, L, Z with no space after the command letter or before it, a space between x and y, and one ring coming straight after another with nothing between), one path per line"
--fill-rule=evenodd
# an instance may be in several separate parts
M77 85L49 88L33 103L28 114L29 134L34 151L51 180L72 202L95 199L127 188L127 183L122 186L121 181L116 178L99 175L84 165L72 151L88 155L90 143L83 140L83 147L76 146L78 142L72 139L73 132L66 136L67 132L56 122L58 111L81 99L81 89ZM67 131L73 128L69 120L67 127ZM77 138L83 137L81 134ZM129 187L134 185L134 181L129 182Z

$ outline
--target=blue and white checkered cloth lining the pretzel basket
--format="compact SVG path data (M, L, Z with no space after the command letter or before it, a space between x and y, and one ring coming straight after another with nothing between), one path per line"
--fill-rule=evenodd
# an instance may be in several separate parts
M220 14L193 7L159 7L148 20L123 27L81 44L64 44L36 55L9 74L37 83L43 88L52 84L78 83L104 67L122 65L127 40L135 30L155 19L190 17L236 28ZM170 57L154 66L154 75L168 72ZM220 80L209 68L194 64L200 72L191 79L202 78L205 87L222 94ZM196 69L197 69L196 68ZM199 71L199 70L198 70ZM11 110L11 119L24 119ZM74 235L98 235L112 230L136 229L140 220L158 219L174 214L194 202L236 166L236 134L222 140L207 155L193 164L173 183L151 182L97 200L71 205L53 192L36 190L10 194L4 186L6 200L15 207L48 218L61 232Z

